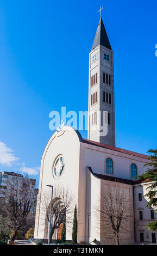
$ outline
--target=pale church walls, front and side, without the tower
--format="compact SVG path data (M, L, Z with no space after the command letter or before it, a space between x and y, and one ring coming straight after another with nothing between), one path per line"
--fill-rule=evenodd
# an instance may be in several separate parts
M61 155L64 158L65 168L59 179L55 179L53 175L53 166L56 157ZM114 163L114 173L112 175L105 172L105 160L110 157ZM87 213L90 213L90 241L94 239L100 241L102 244L108 244L109 241L102 240L101 237L101 222L96 224L96 215L94 205L99 204L99 197L101 191L106 185L119 184L116 180L109 180L109 177L122 178L125 187L129 190L130 209L133 205L133 185L126 184L130 179L130 164L135 163L138 174L143 173L143 166L149 160L147 156L132 153L130 151L102 146L100 143L91 142L81 138L79 132L73 130L71 127L64 126L62 131L55 131L45 148L41 160L40 173L40 187L38 206L36 211L35 221L35 235L36 239L47 239L48 230L45 230L43 219L45 212L40 208L42 195L44 191L48 190L47 185L62 185L68 188L73 194L74 204L77 204L78 209L78 241L87 241ZM87 167L92 169L90 172ZM103 175L99 178L97 175ZM107 179L106 179L107 177ZM106 180L103 180L105 178ZM100 203L101 204L101 203ZM134 216L134 214L132 214ZM72 239L72 224L67 230L67 240ZM53 239L57 237L57 230ZM122 244L128 244L134 241L134 220L130 220L130 233L127 240L123 240ZM110 244L114 244L114 239L110 239Z

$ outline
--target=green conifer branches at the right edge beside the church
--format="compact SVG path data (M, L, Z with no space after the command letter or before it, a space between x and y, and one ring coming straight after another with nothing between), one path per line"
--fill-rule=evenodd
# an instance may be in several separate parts
M152 162L145 164L145 166L148 167L148 169L144 174L138 177L142 179L143 182L153 182L152 185L147 187L148 192L146 193L145 196L147 196L149 199L147 207L157 209L157 149L150 149L148 150L148 153L150 155L149 159L152 160Z

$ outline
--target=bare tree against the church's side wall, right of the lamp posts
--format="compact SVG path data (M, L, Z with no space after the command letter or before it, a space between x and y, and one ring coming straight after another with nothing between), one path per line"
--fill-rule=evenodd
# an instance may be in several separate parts
M122 187L105 186L101 195L101 206L96 207L101 221L103 236L115 237L116 245L120 245L120 234L124 237L130 227L129 191Z

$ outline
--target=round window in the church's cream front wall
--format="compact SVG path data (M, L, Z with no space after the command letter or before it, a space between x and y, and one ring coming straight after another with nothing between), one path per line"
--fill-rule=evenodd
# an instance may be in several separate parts
M60 155L56 158L53 165L53 176L55 179L59 179L61 174L64 172L65 162L64 158Z

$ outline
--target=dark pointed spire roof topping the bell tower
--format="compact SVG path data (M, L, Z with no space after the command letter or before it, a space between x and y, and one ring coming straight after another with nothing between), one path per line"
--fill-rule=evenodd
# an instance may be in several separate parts
M92 45L92 50L95 49L98 45L103 45L106 48L109 48L110 50L112 50L109 39L108 39L108 35L104 27L102 17L99 20L97 32L95 35L95 40L93 41L93 45Z

